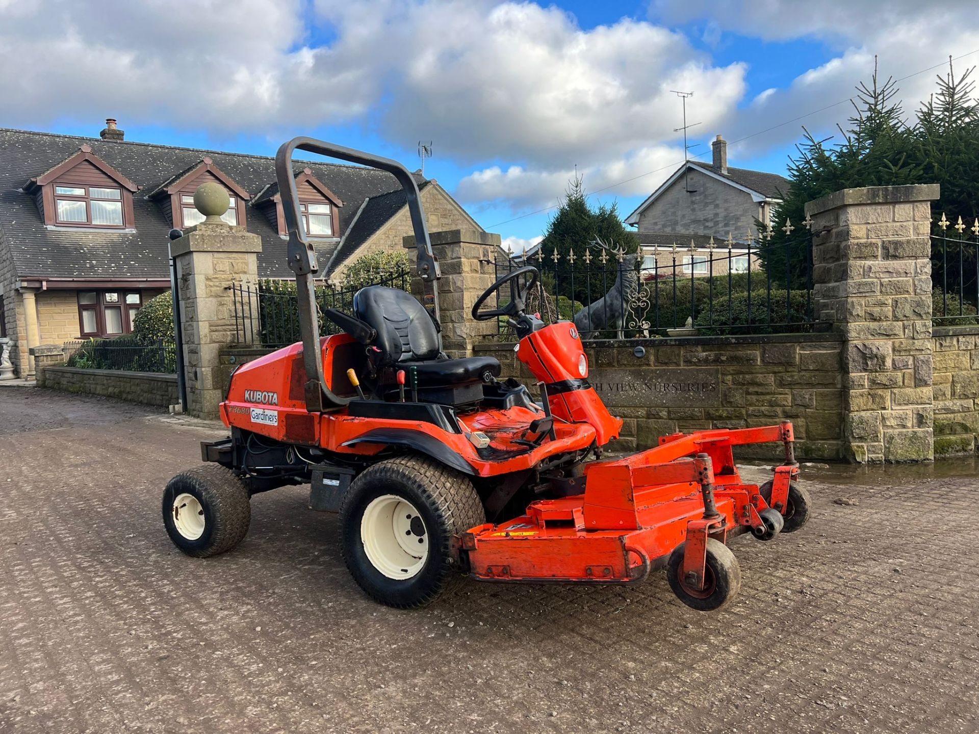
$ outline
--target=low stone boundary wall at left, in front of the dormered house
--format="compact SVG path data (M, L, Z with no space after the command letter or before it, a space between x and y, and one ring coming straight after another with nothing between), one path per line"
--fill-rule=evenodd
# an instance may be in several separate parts
M51 390L104 395L161 407L180 402L177 376L154 372L83 370L64 365L43 365L37 370L37 385Z

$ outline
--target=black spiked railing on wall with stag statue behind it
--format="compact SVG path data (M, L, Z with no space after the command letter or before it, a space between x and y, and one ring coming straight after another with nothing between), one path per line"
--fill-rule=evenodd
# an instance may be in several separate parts
M788 234L788 233L786 233ZM710 239L695 246L642 245L624 252L595 240L583 252L484 260L496 277L530 264L541 288L530 309L545 322L574 321L583 339L814 331L808 231L783 242ZM497 297L497 305L507 295ZM506 319L499 333L512 336ZM682 330L682 331L680 331Z

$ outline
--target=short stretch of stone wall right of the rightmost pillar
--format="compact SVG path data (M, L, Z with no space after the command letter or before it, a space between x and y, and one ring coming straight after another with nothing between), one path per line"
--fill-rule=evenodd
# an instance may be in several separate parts
M979 326L935 327L932 338L935 455L979 445Z

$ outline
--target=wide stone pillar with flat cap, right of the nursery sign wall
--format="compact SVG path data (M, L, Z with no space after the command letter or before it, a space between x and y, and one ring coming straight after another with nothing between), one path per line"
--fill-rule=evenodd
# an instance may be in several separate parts
M815 315L844 337L843 438L860 463L934 458L931 202L938 184L844 189L813 219Z

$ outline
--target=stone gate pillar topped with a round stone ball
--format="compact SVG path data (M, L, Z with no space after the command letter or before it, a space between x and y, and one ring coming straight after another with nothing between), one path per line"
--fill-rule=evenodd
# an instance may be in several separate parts
M217 418L223 398L218 351L235 342L238 332L231 286L255 288L258 280L261 238L225 224L220 217L228 205L220 185L203 184L194 193L194 206L206 219L170 243L177 269L187 409L200 418ZM239 314L239 322L242 318Z

